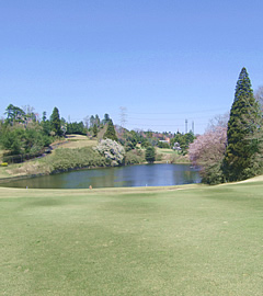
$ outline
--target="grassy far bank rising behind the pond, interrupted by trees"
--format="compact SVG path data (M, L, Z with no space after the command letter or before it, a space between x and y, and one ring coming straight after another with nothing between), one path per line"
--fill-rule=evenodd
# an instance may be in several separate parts
M67 140L53 144L53 152L44 158L9 164L9 167L0 167L0 179L50 174L81 168L105 167L105 158L92 149L96 144L96 140L91 140L85 136L71 135ZM190 160L186 156L179 155L178 151L173 151L172 149L157 148L156 163L162 162L190 163ZM147 163L145 161L144 150L127 152L125 163Z

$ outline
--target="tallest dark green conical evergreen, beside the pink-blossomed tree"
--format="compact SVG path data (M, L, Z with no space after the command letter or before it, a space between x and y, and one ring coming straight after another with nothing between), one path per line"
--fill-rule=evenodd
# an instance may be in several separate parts
M260 109L253 96L253 90L245 68L242 68L230 111L227 130L227 149L222 163L227 181L239 181L258 173L256 133L260 128Z

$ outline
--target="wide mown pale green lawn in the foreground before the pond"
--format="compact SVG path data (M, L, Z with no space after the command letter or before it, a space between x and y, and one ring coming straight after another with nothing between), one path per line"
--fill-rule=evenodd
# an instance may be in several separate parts
M262 191L0 189L0 295L262 295Z

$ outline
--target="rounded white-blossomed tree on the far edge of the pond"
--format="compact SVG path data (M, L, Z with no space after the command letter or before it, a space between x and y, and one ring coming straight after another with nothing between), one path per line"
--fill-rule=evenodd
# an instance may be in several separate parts
M112 166L123 163L125 149L124 147L112 139L102 139L95 149L106 158L106 161Z

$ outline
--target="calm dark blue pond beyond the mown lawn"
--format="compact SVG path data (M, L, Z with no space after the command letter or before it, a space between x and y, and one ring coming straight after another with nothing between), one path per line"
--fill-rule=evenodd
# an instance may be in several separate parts
M28 189L93 189L169 186L199 183L198 170L188 164L140 164L115 168L79 170L10 181L1 186Z

